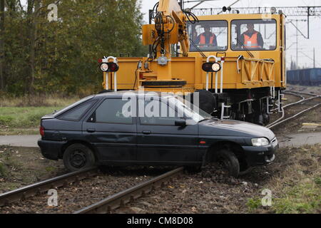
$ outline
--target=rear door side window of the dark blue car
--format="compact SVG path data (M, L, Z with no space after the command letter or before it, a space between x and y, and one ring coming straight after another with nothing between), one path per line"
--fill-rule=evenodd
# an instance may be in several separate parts
M132 117L123 115L123 106L128 100L106 99L96 109L91 117L91 122L96 123L116 123L116 124L133 124Z

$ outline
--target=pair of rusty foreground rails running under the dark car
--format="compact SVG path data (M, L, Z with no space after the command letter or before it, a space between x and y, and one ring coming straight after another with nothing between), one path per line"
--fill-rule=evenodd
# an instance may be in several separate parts
M134 187L128 188L127 190L111 195L110 197L107 197L96 204L78 210L77 212L74 212L74 214L106 214L111 212L113 209L118 209L118 207L121 207L124 204L132 202L139 197L143 197L149 192L153 192L158 188L168 185L168 183L172 182L173 178L180 175L183 170L183 167L180 167L175 170L171 170L170 172L165 172L163 175L151 178L151 180L142 182ZM97 176L98 174L98 168L93 167L90 169L71 172L66 175L54 177L33 185L28 185L26 187L21 187L11 192L6 192L0 195L0 209L21 200L40 196L41 194L45 195L48 190L51 189L68 187L68 185L71 185L72 183L80 182L81 180Z

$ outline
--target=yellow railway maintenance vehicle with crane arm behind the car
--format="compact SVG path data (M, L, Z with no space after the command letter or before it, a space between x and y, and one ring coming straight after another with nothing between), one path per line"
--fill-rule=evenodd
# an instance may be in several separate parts
M102 59L105 90L198 94L195 105L213 116L260 125L270 121L272 107L281 111L284 14L197 17L176 0L161 0L153 21L143 26L148 57Z

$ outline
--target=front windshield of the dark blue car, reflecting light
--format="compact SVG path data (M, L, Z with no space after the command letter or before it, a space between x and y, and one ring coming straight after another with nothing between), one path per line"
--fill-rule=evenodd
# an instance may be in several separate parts
M183 113L184 117L187 117L188 122L190 124L195 124L203 120L208 120L210 118L213 118L213 116L206 113L204 110L201 110L200 108L196 107L193 104L190 104L188 100L184 100L183 98L179 97L169 97L168 103L170 106L177 107L178 113ZM172 106L172 107L173 107Z

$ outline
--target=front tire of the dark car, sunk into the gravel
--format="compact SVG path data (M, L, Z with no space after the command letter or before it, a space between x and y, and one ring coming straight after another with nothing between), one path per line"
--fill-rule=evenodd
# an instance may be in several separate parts
M230 150L219 150L215 154L215 160L217 162L223 162L223 165L225 169L228 170L230 176L236 178L240 175L240 163L235 154Z

